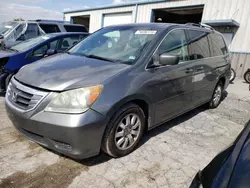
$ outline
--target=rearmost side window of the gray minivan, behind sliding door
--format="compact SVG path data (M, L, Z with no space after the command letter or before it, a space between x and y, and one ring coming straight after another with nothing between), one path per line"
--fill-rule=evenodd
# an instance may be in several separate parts
M209 35L209 42L211 44L211 55L222 56L228 53L226 43L221 35L212 33Z

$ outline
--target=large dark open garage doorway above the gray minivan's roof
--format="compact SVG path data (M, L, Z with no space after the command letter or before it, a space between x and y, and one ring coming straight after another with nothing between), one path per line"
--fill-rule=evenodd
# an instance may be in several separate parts
M200 23L202 20L203 6L155 9L152 22L162 23Z

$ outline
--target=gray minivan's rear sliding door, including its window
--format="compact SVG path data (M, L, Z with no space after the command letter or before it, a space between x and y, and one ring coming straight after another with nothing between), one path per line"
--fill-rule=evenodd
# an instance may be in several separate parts
M193 103L197 106L210 100L211 92L213 92L210 85L210 80L214 77L210 58L209 33L188 29L187 34L189 36L189 57L193 62Z

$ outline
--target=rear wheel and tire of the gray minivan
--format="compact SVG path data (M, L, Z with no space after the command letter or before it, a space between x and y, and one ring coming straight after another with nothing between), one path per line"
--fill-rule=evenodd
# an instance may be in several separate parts
M214 89L211 101L209 102L209 108L211 109L217 108L222 101L222 96L223 96L223 84L220 81Z

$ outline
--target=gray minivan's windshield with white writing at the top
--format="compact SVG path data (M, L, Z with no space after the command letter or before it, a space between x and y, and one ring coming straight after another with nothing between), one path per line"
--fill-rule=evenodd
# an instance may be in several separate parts
M157 29L149 27L107 27L90 35L68 53L133 64L157 33Z

